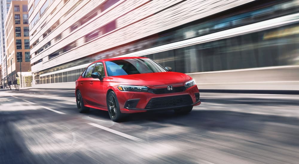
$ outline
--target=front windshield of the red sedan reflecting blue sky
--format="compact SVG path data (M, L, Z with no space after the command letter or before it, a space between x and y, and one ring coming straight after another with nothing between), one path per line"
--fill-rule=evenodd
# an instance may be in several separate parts
M148 58L106 61L106 67L108 76L166 72L159 64Z

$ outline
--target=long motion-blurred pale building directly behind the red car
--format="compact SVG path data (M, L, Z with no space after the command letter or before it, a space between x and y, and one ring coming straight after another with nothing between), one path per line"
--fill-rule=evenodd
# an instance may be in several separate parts
M74 88L92 61L144 56L199 89L299 89L298 0L29 0L33 85Z

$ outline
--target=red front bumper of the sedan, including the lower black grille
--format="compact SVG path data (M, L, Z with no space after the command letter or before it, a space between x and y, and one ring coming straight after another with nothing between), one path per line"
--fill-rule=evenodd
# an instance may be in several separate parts
M120 111L122 113L170 110L187 106L196 106L201 103L199 99L199 91L196 85L191 86L182 92L175 93L155 94L151 92L117 91L116 95L118 98ZM164 100L165 103L163 103ZM128 102L130 102L129 105Z

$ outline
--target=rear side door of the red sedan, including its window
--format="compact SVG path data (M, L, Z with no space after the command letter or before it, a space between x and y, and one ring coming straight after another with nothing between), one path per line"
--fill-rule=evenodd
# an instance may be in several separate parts
M91 74L92 74L92 71L94 70L94 66L95 66L95 63L88 66L82 80L79 81L79 85L81 85L80 92L82 94L82 98L88 104L92 104L92 100L91 100L92 89L91 89L91 86L92 86L92 82L93 82L94 79L91 78Z

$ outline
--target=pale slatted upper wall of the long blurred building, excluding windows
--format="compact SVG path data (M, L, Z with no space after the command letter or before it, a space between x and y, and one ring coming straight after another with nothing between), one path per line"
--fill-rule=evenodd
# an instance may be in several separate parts
M40 0L34 7L33 13L29 16L29 22L38 14L46 0ZM98 11L96 17L71 31L70 26L84 16L82 13L88 13L97 10L97 7L103 5L103 0L81 1L77 7L78 0L53 1L45 13L39 18L34 26L30 28L30 43L39 40L39 43L32 46L30 54L32 55L31 64L42 62L32 66L33 72L39 72L65 62L73 61L105 49L119 46L149 35L179 26L181 24L197 20L199 18L227 10L241 4L248 3L248 0L239 1L124 1L120 0L113 6ZM31 0L28 6L34 6ZM176 5L179 4L179 5ZM73 10L65 15L72 7ZM55 9L55 10L54 10ZM192 12L191 12L192 11ZM58 23L59 21L59 23ZM86 42L85 36L93 30L105 26L107 23L115 21L116 27L109 33L98 36L97 39ZM57 25L55 25L57 23ZM51 27L54 27L51 29ZM41 28L42 26L42 28ZM47 33L47 30L51 32ZM46 37L43 34L47 33ZM57 35L61 34L60 40L55 40ZM74 48L67 52L62 52L55 58L49 59L49 55L58 49L76 42ZM51 42L51 46L42 52L35 54L42 46ZM71 46L71 45L70 45Z

